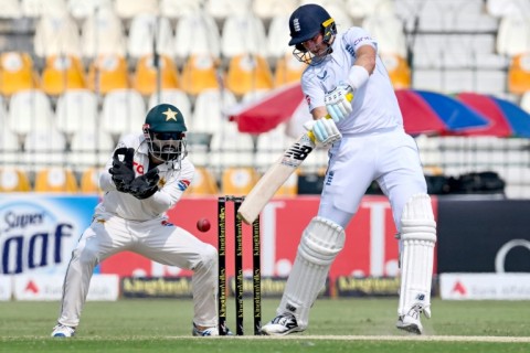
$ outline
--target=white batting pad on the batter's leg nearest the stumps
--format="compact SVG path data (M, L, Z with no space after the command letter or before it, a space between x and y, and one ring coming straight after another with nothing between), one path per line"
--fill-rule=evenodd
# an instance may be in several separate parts
M326 285L329 267L344 246L344 239L340 225L322 217L311 220L301 235L278 314L292 312L298 327L307 327L309 309Z

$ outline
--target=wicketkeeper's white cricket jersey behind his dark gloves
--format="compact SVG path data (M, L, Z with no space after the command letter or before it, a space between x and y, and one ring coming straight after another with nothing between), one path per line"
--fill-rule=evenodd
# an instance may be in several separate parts
M149 168L149 149L142 133L127 135L118 142L120 147L134 148L134 169L136 176L142 175ZM114 152L113 152L114 156ZM113 167L110 158L105 171L99 178L99 186L105 194L103 201L97 205L95 216L115 214L129 221L149 221L156 217L166 216L165 213L171 208L182 196L182 193L193 180L195 168L189 159L184 158L180 163L163 163L158 165L160 181L159 191L152 196L138 200L135 196L116 190L112 174L108 170Z

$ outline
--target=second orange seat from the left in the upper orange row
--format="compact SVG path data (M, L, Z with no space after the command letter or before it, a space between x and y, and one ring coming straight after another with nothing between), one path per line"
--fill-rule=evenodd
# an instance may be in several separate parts
M50 55L41 77L41 89L57 96L66 89L86 88L85 69L81 58L73 55Z

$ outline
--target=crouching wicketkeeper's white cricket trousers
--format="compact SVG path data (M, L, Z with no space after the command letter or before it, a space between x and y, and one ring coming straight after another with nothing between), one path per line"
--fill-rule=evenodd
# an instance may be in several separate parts
M193 322L218 324L218 250L166 218L136 222L95 216L83 233L66 270L59 322L77 327L97 264L120 252L134 252L169 266L193 270ZM191 323L190 323L191 324Z

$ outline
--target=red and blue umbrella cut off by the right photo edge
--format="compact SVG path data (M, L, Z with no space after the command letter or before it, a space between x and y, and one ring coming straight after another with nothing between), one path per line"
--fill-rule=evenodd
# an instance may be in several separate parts
M530 138L530 114L518 105L476 93L460 93L457 97L489 120L489 126L470 129L463 135Z

